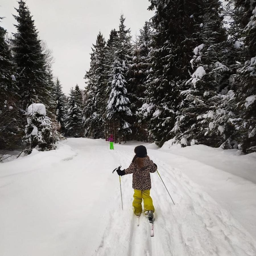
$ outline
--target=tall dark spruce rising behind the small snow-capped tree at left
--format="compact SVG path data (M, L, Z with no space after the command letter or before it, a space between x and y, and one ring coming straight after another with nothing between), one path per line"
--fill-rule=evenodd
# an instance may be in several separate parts
M18 25L15 25L17 33L13 34L12 44L17 64L20 105L23 110L33 102L43 102L48 107L51 100L50 85L38 31L26 3L19 0L18 4L19 8L15 8L18 15L13 15Z

